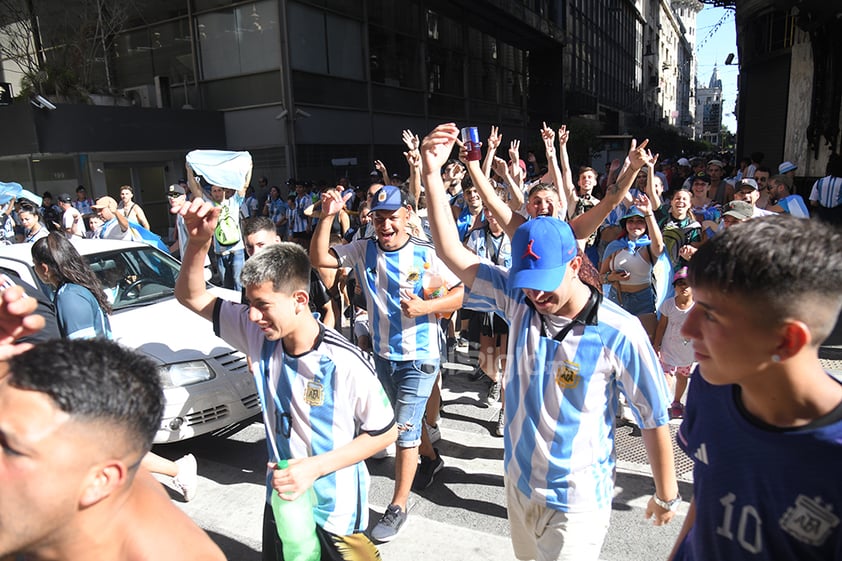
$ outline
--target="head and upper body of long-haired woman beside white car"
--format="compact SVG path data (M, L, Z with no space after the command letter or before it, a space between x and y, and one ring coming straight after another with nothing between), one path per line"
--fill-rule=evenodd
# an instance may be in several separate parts
M59 331L66 339L111 338L111 304L88 263L70 241L55 232L32 245L35 273L55 288Z

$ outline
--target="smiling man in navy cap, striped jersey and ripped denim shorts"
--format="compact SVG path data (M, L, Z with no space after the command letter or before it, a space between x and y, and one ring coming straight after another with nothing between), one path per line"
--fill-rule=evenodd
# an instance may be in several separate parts
M422 429L422 419L441 361L436 314L462 305L462 287L432 244L409 234L411 207L405 193L385 185L370 202L375 237L329 247L330 227L345 202L336 190L322 193L322 219L310 244L310 259L314 267L354 269L365 295L374 365L398 422L395 491L371 532L375 540L386 542L397 536L406 521L410 490L429 486L444 466L427 430ZM425 299L424 287L436 275L447 294Z

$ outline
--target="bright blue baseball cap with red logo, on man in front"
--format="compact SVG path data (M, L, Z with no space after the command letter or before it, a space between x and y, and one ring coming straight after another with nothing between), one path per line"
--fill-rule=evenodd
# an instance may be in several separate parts
M512 238L509 290L555 290L578 252L576 236L567 222L552 216L527 221Z

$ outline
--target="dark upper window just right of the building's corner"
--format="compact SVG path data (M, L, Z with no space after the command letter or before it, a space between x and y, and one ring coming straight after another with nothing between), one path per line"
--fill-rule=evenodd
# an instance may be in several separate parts
M289 39L295 70L365 79L358 21L291 3Z

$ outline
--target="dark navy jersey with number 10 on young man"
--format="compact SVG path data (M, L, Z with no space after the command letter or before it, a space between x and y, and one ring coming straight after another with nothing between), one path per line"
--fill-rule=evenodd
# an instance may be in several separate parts
M738 386L697 368L677 439L694 462L696 520L676 561L842 559L842 407L804 427L766 426Z

